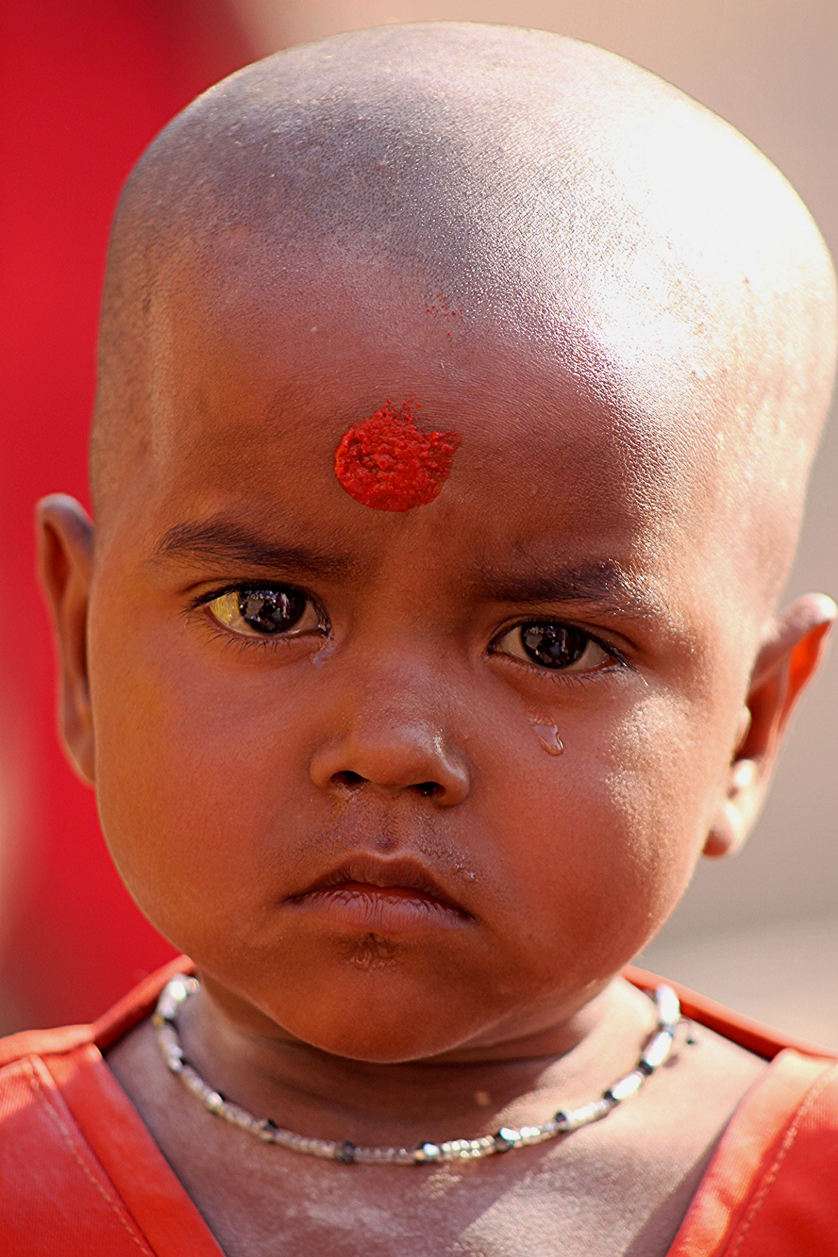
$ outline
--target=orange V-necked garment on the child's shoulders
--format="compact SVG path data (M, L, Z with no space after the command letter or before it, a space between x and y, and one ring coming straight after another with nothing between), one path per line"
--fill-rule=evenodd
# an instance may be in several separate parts
M93 1026L0 1040L4 1257L220 1257L102 1057L188 967L181 957L160 969ZM838 1060L676 991L686 1017L771 1065L734 1114L670 1257L835 1257Z

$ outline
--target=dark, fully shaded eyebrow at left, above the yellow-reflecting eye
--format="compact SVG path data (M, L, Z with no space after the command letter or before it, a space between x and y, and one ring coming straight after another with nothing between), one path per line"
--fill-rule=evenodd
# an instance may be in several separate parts
M346 576L356 567L349 554L276 543L226 519L173 524L155 546L152 558L181 563L193 558L246 563L273 572L294 568L309 576Z

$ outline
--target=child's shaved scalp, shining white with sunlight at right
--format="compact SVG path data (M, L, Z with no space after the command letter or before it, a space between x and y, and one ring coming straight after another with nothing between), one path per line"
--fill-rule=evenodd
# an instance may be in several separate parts
M338 35L206 92L117 212L99 520L153 445L165 277L234 236L291 292L319 259L369 260L443 289L471 332L555 354L670 434L776 595L829 403L834 277L793 189L702 106L588 44L454 23Z

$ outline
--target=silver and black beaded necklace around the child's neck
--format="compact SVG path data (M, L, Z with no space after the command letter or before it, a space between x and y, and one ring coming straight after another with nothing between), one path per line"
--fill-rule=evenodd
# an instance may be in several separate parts
M279 1144L293 1153L305 1153L309 1156L322 1156L330 1161L359 1165L427 1165L438 1161L475 1160L480 1156L492 1156L495 1153L508 1153L513 1148L526 1148L540 1144L557 1135L564 1135L579 1126L588 1126L608 1116L618 1104L636 1095L658 1066L663 1065L675 1038L676 1027L681 1019L681 1006L672 987L661 985L655 992L657 1026L641 1058L631 1073L623 1075L603 1091L602 1096L565 1111L559 1109L549 1121L540 1126L501 1126L494 1135L480 1139L449 1139L441 1144L422 1143L416 1148L359 1148L349 1139L310 1139L293 1130L278 1126L270 1117L258 1119L246 1109L225 1100L210 1087L183 1057L176 1018L181 1006L191 994L200 989L199 982L178 973L165 987L152 1017L163 1060L172 1073L176 1073L183 1086L197 1096L205 1109L249 1131L266 1144Z

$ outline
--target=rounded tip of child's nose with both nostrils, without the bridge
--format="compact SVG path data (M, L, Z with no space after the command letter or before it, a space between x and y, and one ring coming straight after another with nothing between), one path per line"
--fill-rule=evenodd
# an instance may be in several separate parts
M423 723L356 719L339 739L312 757L312 781L320 789L366 787L396 798L415 793L454 807L467 797L471 773L465 757Z

